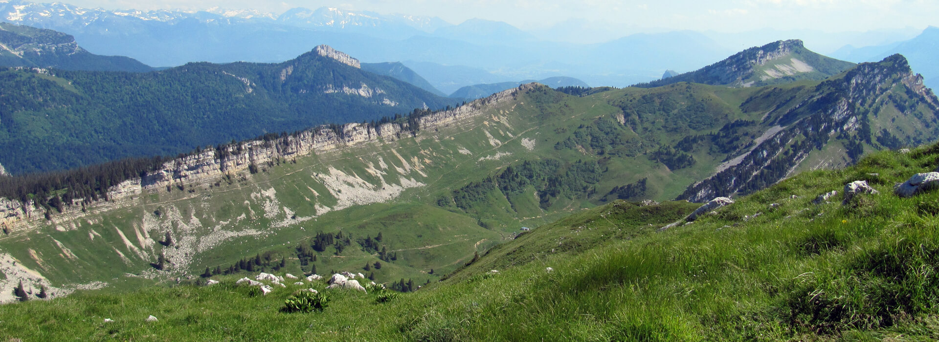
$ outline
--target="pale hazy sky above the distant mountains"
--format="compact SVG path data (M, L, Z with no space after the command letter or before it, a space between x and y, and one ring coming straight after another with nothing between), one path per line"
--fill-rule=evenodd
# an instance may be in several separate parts
M34 0L44 2L43 0ZM45 0L49 1L49 0ZM61 0L60 0L61 1ZM82 7L156 9L254 8L280 14L291 7L341 7L383 14L471 18L538 29L585 19L617 28L741 32L810 28L830 32L939 25L936 0L64 0Z

